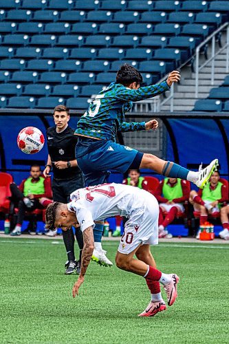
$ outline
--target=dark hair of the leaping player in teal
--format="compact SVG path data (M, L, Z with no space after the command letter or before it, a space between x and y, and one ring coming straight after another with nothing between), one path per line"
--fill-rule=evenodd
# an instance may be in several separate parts
M142 83L142 74L138 72L138 69L135 67L128 63L124 63L124 65L118 69L116 83L124 86L129 86L131 83L140 84Z

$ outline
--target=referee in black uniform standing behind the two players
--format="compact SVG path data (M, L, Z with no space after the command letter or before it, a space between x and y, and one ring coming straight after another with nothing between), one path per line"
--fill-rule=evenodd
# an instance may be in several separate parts
M83 174L77 166L75 147L77 136L74 129L68 126L70 116L69 109L64 105L54 108L55 127L47 129L47 165L43 171L45 177L50 176L53 171L52 193L53 200L67 203L70 194L85 186ZM65 264L65 274L70 275L76 270L80 273L81 253L83 250L83 235L81 230L76 229L76 240L80 248L79 261L76 261L74 254L74 233L72 228L63 230L63 241L67 251L67 264ZM55 233L47 233L54 236Z

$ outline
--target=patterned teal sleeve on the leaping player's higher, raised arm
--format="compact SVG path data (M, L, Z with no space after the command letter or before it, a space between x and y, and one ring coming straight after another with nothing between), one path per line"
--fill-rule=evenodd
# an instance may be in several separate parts
M166 81L162 81L162 83L151 86L140 87L139 89L129 89L128 87L123 86L116 89L116 98L138 102L140 100L155 97L157 94L168 91L168 89L170 89L170 87Z

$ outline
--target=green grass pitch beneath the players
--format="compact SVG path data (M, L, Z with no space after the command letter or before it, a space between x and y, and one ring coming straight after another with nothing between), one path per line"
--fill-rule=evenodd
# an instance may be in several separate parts
M77 277L63 274L63 242L52 242L0 239L1 343L229 343L228 245L153 247L157 267L179 275L179 296L142 319L149 303L142 277L92 262L73 299ZM114 261L118 242L103 246Z

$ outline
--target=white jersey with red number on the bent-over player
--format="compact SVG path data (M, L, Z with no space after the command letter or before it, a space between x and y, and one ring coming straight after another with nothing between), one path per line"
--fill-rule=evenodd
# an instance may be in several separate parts
M148 191L115 183L78 189L70 199L67 207L76 213L82 231L94 227L94 221L116 215L130 217L138 208L155 204L155 197Z

